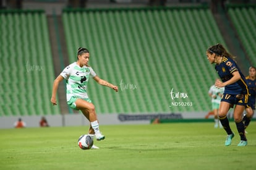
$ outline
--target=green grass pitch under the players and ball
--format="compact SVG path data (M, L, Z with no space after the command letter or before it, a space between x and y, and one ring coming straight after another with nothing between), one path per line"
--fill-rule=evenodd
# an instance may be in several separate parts
M234 122L232 144L212 123L101 125L99 150L81 150L88 127L0 129L0 169L255 169L256 122L248 127L247 147Z

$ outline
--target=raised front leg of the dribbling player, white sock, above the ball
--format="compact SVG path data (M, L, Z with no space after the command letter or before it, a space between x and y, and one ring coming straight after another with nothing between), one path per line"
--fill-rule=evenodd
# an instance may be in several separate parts
M93 134L93 131L95 132L96 140L103 140L105 139L105 136L101 134L100 132L100 126L98 124L98 119L96 116L96 111L95 111L95 106L94 104L82 100L82 99L77 99L75 101L77 109L80 109L85 117L87 117L88 121L90 121L90 129L89 129L89 134Z

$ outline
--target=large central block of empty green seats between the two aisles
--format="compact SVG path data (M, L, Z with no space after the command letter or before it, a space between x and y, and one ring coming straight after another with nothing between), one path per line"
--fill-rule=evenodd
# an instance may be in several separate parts
M225 43L208 7L66 9L62 21L70 62L86 47L96 73L119 86L114 93L89 82L98 113L210 110L217 75L205 50ZM179 93L174 100L172 89ZM170 107L173 101L193 106Z

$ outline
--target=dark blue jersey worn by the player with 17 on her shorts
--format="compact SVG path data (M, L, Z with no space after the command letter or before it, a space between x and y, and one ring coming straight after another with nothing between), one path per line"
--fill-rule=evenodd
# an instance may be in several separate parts
M215 65L215 69L218 72L218 75L220 76L222 82L230 80L233 77L233 72L238 71L241 75L240 80L233 84L225 86L224 93L230 95L249 95L249 89L247 87L245 77L233 59L231 59L230 57L223 57L221 63Z

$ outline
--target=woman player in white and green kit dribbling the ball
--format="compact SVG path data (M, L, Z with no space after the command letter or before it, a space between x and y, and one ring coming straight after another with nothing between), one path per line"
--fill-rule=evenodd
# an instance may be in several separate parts
M95 112L95 106L88 98L87 95L87 83L89 77L106 87L113 88L114 91L118 91L118 87L107 82L106 80L100 79L96 75L92 67L88 66L90 53L86 48L79 48L77 51L77 61L67 66L61 74L54 80L53 92L51 96L51 103L56 105L56 92L59 87L59 82L67 80L67 104L72 109L82 111L83 115L90 121L90 129L88 134L91 137L96 137L96 140L103 140L105 136L101 134L98 119Z

